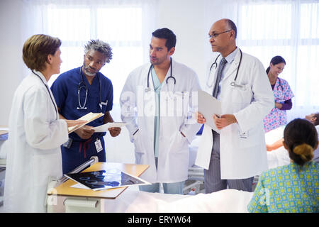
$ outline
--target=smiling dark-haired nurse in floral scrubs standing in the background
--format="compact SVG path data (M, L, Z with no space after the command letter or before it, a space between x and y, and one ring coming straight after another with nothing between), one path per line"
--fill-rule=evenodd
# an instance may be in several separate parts
M284 70L286 61L284 57L275 56L270 61L269 67L266 72L272 91L274 92L275 105L272 111L264 118L264 131L267 133L279 126L284 126L287 123L286 111L292 108L291 99L293 92L289 83L279 76Z

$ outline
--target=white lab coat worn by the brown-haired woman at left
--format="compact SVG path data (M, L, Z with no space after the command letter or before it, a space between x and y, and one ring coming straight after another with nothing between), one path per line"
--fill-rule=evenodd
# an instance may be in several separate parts
M35 73L47 84L43 74ZM57 120L43 82L31 72L13 97L6 144L6 212L45 212L49 176L62 177L60 145L68 139L67 123Z

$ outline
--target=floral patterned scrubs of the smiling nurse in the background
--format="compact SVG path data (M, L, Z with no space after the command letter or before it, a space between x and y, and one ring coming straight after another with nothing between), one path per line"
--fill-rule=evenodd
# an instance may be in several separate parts
M274 86L274 101L280 104L284 104L286 100L293 98L293 92L286 82L286 80L277 77L276 84ZM286 110L281 110L276 107L264 118L264 131L267 133L272 129L284 126L287 123Z

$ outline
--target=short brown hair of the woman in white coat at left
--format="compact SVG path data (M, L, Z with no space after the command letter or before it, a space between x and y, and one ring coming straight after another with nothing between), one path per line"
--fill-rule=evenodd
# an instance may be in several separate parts
M32 35L23 45L23 62L30 70L45 70L47 55L55 55L55 52L61 46L59 38L50 35Z

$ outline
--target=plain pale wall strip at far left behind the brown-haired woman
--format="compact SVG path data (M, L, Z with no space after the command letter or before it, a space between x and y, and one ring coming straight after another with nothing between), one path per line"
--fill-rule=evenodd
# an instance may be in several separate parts
M9 122L14 91L26 71L21 54L22 6L21 0L0 1L0 125L4 126Z

